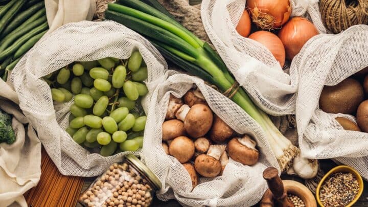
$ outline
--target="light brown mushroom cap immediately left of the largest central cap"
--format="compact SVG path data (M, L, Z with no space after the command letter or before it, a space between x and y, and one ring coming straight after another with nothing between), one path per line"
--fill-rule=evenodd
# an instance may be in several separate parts
M184 124L180 120L172 119L163 123L163 141L173 140L185 134Z

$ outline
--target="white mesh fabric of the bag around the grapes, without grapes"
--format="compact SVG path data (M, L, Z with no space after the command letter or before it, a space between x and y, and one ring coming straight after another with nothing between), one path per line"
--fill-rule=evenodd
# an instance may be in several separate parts
M134 50L140 51L148 67L146 99L149 99L167 64L148 40L113 21L64 25L45 35L14 68L10 81L19 97L19 106L62 174L100 175L110 164L122 160L125 153L103 157L74 142L64 130L74 101L54 105L49 85L40 78L74 61L127 59ZM145 105L143 108L147 112Z

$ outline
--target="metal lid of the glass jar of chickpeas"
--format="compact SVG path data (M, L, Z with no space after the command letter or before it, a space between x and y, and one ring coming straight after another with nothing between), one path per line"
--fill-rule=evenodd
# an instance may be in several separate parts
M127 161L136 167L138 171L140 171L148 181L153 185L155 190L161 189L161 181L156 177L156 175L149 169L145 164L141 162L141 160L133 154L126 154L125 158Z

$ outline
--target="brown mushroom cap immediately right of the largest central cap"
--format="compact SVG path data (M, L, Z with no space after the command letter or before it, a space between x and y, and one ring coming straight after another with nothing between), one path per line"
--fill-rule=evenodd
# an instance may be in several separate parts
M215 115L214 122L210 130L210 139L215 143L222 143L229 139L233 133L234 130Z

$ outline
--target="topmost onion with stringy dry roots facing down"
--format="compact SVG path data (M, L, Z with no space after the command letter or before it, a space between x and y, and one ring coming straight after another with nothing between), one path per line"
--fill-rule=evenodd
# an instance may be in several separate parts
M289 0L247 0L252 21L264 30L280 29L290 17Z

